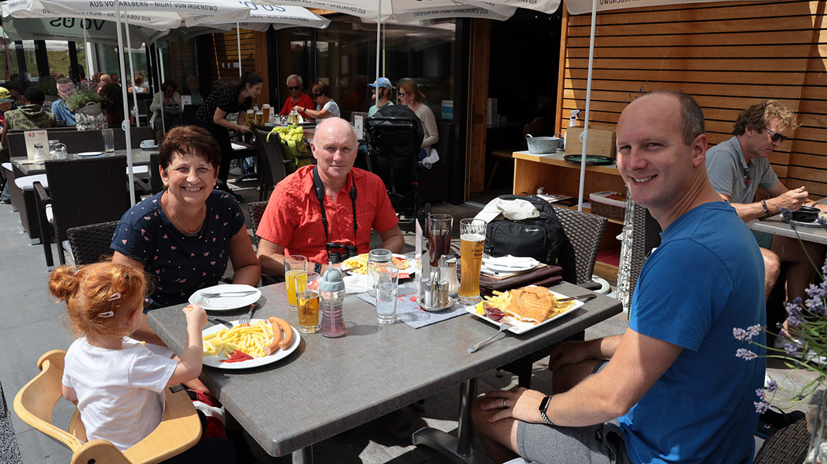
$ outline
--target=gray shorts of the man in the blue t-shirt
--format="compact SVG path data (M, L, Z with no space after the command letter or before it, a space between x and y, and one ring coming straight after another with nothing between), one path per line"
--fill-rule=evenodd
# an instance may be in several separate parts
M608 361L599 362L600 372ZM517 451L534 464L576 462L631 464L616 421L589 427L557 427L547 424L517 425Z

